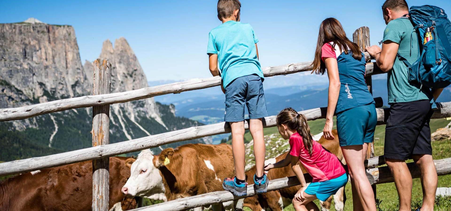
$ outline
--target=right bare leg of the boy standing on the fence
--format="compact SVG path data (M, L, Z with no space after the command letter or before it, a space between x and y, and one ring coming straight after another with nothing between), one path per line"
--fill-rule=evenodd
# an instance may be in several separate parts
M265 167L265 154L266 146L265 139L263 138L263 123L262 119L250 119L249 130L254 140L254 156L255 167L257 168L256 175L258 177L263 176Z

